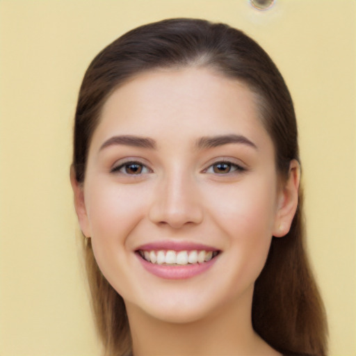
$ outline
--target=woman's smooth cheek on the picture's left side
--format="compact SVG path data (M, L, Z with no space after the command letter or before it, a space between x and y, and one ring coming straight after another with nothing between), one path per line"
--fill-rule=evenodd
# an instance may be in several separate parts
M95 260L118 293L131 290L130 241L127 238L145 214L145 192L138 186L88 181L86 205ZM147 193L146 193L147 194ZM124 294L122 294L124 295Z

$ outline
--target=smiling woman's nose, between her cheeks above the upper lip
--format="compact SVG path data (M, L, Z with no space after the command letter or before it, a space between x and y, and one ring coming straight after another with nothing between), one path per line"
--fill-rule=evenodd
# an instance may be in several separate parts
M149 209L149 219L174 229L200 224L203 209L195 179L178 173L162 179Z

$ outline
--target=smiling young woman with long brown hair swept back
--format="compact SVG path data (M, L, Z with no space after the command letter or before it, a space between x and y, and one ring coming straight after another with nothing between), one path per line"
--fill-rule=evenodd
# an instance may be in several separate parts
M325 355L296 118L241 31L169 19L90 64L71 170L105 355Z

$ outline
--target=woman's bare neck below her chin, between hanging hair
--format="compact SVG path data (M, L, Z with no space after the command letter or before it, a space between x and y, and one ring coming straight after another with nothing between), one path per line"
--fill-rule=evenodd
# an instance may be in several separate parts
M254 332L251 302L227 303L190 323L161 321L126 304L134 356L279 355Z

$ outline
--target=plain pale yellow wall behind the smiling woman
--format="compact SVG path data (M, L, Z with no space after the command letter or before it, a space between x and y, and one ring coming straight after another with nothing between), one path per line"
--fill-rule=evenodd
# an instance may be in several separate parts
M139 24L202 17L252 35L296 104L309 250L330 355L356 355L354 0L0 1L0 355L99 355L69 183L83 72Z

